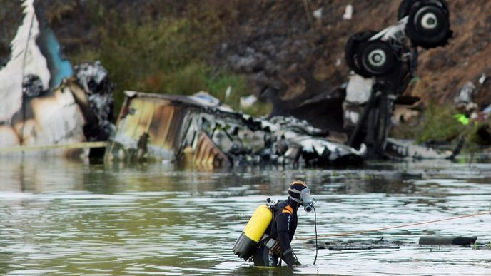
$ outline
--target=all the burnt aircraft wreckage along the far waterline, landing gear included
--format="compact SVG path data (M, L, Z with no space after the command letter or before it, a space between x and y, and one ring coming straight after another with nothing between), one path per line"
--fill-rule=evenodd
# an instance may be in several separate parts
M442 46L451 36L445 2L426 2L403 1L405 8L400 9L397 24L378 33L355 34L348 41L347 63L356 74L345 88L343 124L349 139L344 144L328 140L328 131L306 121L253 118L222 106L206 93L180 96L126 91L115 128L110 123L113 98L107 71L98 62L72 68L61 57L37 2L26 0L24 22L11 44L11 59L0 70L0 97L4 99L0 150L20 148L24 152L26 146L60 145L56 153L79 155L86 142L110 140L98 145L106 147L105 160L186 160L207 167L356 165L365 158L379 157L452 158L456 152L438 153L387 137L393 105L415 68L416 46ZM438 39L428 34L437 34ZM408 37L412 51L405 45ZM63 147L74 143L82 145Z

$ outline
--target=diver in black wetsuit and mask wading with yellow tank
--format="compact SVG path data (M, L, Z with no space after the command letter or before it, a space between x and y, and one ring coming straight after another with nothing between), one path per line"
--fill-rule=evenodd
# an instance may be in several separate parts
M252 257L255 266L278 266L279 259L290 267L302 265L290 242L297 229L298 207L303 205L304 210L310 212L313 203L307 184L301 180L293 181L286 200L258 207L234 245L233 252L244 260Z

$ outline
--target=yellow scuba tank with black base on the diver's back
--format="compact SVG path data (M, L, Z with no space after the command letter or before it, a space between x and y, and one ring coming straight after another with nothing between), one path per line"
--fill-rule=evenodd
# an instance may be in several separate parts
M260 205L256 208L246 228L242 231L241 236L238 237L236 245L233 245L233 253L244 260L251 257L255 245L263 237L271 220L273 220L273 211L268 206Z

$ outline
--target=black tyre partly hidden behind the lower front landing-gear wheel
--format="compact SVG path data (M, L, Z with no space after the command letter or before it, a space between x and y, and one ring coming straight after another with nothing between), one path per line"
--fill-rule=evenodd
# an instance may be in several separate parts
M345 60L351 70L355 71L360 76L365 78L370 78L371 74L365 71L362 66L362 53L363 45L370 37L375 36L377 31L361 31L359 33L353 34L348 39L345 46Z

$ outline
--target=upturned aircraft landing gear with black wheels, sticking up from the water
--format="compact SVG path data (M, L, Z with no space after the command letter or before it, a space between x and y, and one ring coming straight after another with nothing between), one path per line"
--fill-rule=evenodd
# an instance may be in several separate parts
M408 86L417 66L417 46L445 46L452 37L445 0L403 0L398 9L398 20L380 32L354 34L345 46L345 59L350 69L372 83L370 98L365 102L360 102L363 97L356 95L363 89L347 89L347 93L355 94L349 98L357 100L356 103L347 100L343 103L345 123L348 122L345 125L348 145L355 148L361 143L368 145L371 157L380 156L386 145L394 103ZM355 112L362 106L363 112ZM355 117L358 118L356 123L352 119Z

